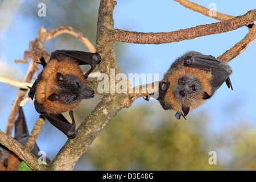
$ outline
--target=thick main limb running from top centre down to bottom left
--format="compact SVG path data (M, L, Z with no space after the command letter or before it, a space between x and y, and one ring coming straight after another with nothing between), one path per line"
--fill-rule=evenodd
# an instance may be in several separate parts
M114 41L110 39L106 27L113 28L113 10L115 1L102 0L98 12L96 49L102 60L98 64L101 73L110 76L110 68L121 73L114 52ZM50 168L53 170L71 170L90 143L121 109L124 98L121 94L102 94L101 100L77 129L76 138L68 140L55 156Z

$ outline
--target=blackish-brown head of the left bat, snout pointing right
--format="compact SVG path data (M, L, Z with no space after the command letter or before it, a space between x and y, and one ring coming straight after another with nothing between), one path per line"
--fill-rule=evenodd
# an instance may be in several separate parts
M94 97L93 89L85 86L76 76L56 73L56 79L56 84L52 88L55 93L48 97L50 101L73 104L78 100Z

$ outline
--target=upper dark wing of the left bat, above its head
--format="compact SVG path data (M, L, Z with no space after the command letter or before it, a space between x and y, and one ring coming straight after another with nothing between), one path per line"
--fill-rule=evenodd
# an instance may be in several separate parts
M79 65L89 64L91 66L90 70L84 75L85 79L101 61L101 56L98 52L91 53L84 51L56 50L51 53L51 60L57 59L61 61L67 57L71 57Z

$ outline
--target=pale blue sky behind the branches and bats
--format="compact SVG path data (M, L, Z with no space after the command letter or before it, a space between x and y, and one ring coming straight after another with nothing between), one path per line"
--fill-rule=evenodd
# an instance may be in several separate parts
M31 1L33 3L34 1ZM100 1L96 1L98 4ZM193 1L202 6L208 7L210 3L216 3L217 11L229 15L243 15L251 9L255 9L256 1ZM85 9L86 10L86 9ZM6 72L13 73L11 78L22 80L26 73L27 65L14 64L15 59L22 59L23 53L28 49L28 43L35 39L39 28L35 28L31 19L24 19L21 16L22 10L19 10L10 25L1 34L1 59L0 75L5 76ZM47 14L46 14L47 15ZM47 18L47 16L46 16ZM82 17L81 17L82 18ZM199 24L209 24L218 22L215 19L193 12L175 1L117 1L114 9L114 27L123 30L139 32L169 32L179 29L197 26ZM97 22L96 22L97 23ZM95 23L95 26L96 26ZM57 27L52 27L52 29ZM76 27L73 27L76 29ZM222 34L203 36L192 40L184 40L179 43L160 44L160 45L140 45L128 43L125 44L125 50L122 55L117 55L117 63L122 61L121 70L125 73L159 73L159 79L162 79L164 73L170 67L170 64L184 52L194 50L205 55L220 56L226 50L239 42L248 32L247 27L238 28L235 31ZM93 40L95 41L95 40ZM61 49L61 47L59 47ZM222 132L221 128L229 123L240 121L251 121L255 128L255 50L256 42L251 43L248 48L228 64L233 69L230 76L233 85L233 91L224 84L214 94L213 98L204 105L189 113L193 117L200 111L207 111L213 118L210 129L214 132ZM130 65L134 64L133 65ZM136 65L139 65L138 67ZM5 106L0 106L0 130L5 131L7 118L11 109L11 104L16 96L18 88L0 83L0 92L2 94ZM155 107L160 105L156 101L150 101ZM147 106L139 98L133 105ZM24 108L28 121L35 121L38 114L34 110L32 102L25 105ZM32 112L32 113L31 113ZM31 114L28 114L31 113ZM173 117L170 114L170 117ZM47 124L48 125L48 124ZM31 126L32 127L32 126ZM29 128L31 130L32 128ZM48 138L49 139L49 138ZM43 139L39 138L42 141ZM65 136L61 135L59 142L56 142L57 152L65 143ZM61 141L61 142L60 142ZM49 151L51 152L51 151Z

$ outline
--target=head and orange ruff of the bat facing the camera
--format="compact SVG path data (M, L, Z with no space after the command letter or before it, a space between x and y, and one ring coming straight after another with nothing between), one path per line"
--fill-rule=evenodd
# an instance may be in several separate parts
M178 69L166 81L169 86L166 88L166 93L162 91L164 94L162 106L186 116L189 110L195 109L210 98L212 92L210 79L209 73L200 69L187 67Z

